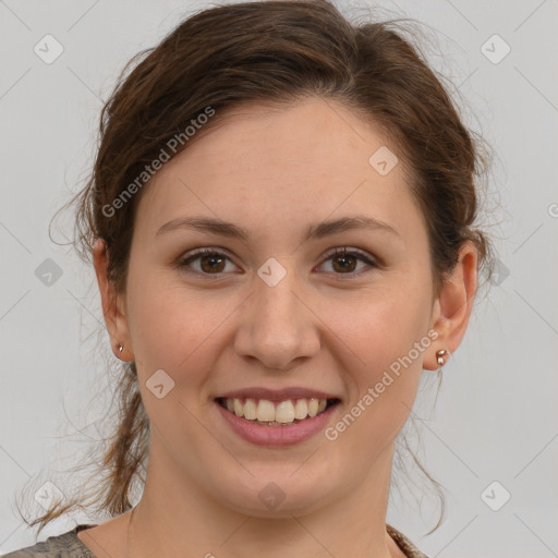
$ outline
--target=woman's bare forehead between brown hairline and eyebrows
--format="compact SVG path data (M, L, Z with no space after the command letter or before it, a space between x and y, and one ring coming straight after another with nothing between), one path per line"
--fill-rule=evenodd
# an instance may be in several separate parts
M403 165L375 166L377 153L392 154L391 166L396 147L356 112L308 99L220 117L151 180L137 219L150 234L189 214L253 223L260 234L363 210L395 228L420 225Z

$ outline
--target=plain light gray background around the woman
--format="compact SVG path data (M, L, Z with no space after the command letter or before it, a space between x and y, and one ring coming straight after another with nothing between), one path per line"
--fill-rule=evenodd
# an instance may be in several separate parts
M106 383L88 337L101 319L93 270L49 240L48 222L86 177L101 99L118 72L206 5L0 0L0 554L34 543L14 512L15 492L52 463L69 482L60 460L76 462L85 450L77 428L95 436L102 407L87 407ZM338 5L350 14L366 3ZM446 521L423 536L437 517L435 500L413 507L409 494L405 502L393 499L388 521L432 557L558 556L558 4L380 5L437 29L444 58L432 52L432 63L452 80L469 106L465 120L496 150L488 203L500 209L486 220L498 223L490 232L500 238L504 269L445 367L436 407L435 384L426 381L414 409L423 462L446 487ZM51 64L34 52L47 34L64 48ZM511 48L497 64L481 51L494 34ZM488 48L498 54L504 46ZM46 258L63 271L50 287L35 275ZM489 492L493 501L511 494L499 511L482 498L494 481L504 488ZM420 499L423 492L415 488ZM40 539L73 525L56 522Z

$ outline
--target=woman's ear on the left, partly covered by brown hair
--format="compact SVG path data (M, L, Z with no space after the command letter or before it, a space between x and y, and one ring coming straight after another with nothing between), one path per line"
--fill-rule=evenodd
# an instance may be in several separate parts
M93 262L97 275L102 314L110 336L112 352L121 361L133 361L134 353L130 339L128 318L123 298L117 292L114 283L107 276L108 253L102 239L97 239L93 247ZM119 345L123 345L122 352Z

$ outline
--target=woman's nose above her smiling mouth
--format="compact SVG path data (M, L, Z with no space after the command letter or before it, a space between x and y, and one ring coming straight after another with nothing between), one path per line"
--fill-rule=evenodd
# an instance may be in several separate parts
M254 292L245 302L234 339L234 349L242 359L257 360L266 368L289 371L300 361L319 352L319 318L312 311L312 301L300 288L295 271L274 287L259 276Z

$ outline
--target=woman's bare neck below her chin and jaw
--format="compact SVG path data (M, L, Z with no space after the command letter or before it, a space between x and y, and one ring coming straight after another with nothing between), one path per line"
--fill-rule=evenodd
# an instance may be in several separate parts
M392 446L357 490L312 508L286 506L274 517L223 506L162 448L150 449L144 494L130 523L129 557L283 558L286 550L290 558L403 556L386 532Z

